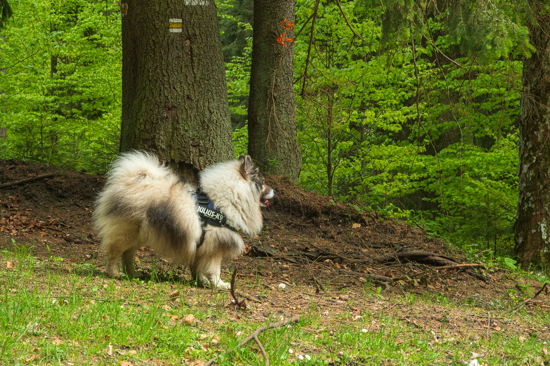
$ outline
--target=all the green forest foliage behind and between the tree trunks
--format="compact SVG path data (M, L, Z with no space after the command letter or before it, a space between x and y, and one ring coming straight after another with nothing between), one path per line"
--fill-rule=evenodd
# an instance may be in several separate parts
M0 126L8 134L0 156L105 171L119 144L116 5L10 4L15 17L0 50L7 98ZM339 4L321 2L315 29L309 21L295 40L301 185L360 211L408 219L472 253L508 255L529 6ZM252 2L217 5L238 156L248 150ZM296 3L296 30L312 5Z

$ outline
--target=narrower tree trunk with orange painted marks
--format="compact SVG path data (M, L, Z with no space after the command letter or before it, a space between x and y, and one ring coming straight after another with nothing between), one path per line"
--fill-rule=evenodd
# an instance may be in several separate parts
M298 182L294 0L254 0L248 152L264 171Z

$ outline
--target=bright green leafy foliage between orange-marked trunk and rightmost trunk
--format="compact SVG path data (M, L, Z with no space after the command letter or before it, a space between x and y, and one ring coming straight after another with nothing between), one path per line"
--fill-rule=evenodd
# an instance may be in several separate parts
M525 28L507 38L508 48L485 44L500 53L474 58L447 31L448 17L426 21L414 3L399 4L384 5L386 13L359 1L342 3L342 11L320 5L303 96L296 85L300 183L411 219L454 243L508 253ZM309 5L298 3L296 24L309 17ZM295 42L296 80L304 77L310 32L306 26ZM509 49L515 53L502 59Z

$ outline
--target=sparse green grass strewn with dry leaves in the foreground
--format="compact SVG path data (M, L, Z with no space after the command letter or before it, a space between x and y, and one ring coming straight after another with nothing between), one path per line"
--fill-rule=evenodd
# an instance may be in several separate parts
M2 365L179 365L208 361L223 350L230 352L218 364L263 365L254 341L243 348L239 343L258 326L290 317L296 296L315 291L298 285L284 293L287 303L277 300L274 304L268 291L265 303L238 312L227 306L230 296L225 291L174 281L112 280L89 264L56 257L37 260L24 246L0 255ZM7 268L8 261L13 268ZM244 285L245 280L240 281ZM265 291L260 282L249 280L247 290ZM180 295L172 301L170 294L176 289ZM487 316L487 309L456 304L442 296L403 292L388 298L366 289L361 301L349 304L367 309L356 320L349 307L337 311L317 305L317 298L309 296L310 305L301 309L298 324L260 335L270 364L463 364L471 361L472 352L482 354L478 360L488 365L540 364L550 358L543 354L548 333L540 330L550 320L546 313L489 309L503 328L509 318L520 319L526 329L533 329L530 335L521 327L491 330L487 339L485 331L467 327L450 334L446 323L417 329L395 313L365 307L367 303L398 303L411 316L423 316L419 309L431 312L432 306L439 306L449 314ZM193 314L194 322L180 324L188 314ZM112 356L108 356L109 345Z

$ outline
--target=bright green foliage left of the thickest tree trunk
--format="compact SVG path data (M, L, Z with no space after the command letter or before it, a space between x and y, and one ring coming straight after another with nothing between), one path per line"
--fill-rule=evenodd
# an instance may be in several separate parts
M13 0L0 50L7 86L0 155L105 171L118 151L120 12L115 4ZM107 8L106 8L107 6Z

